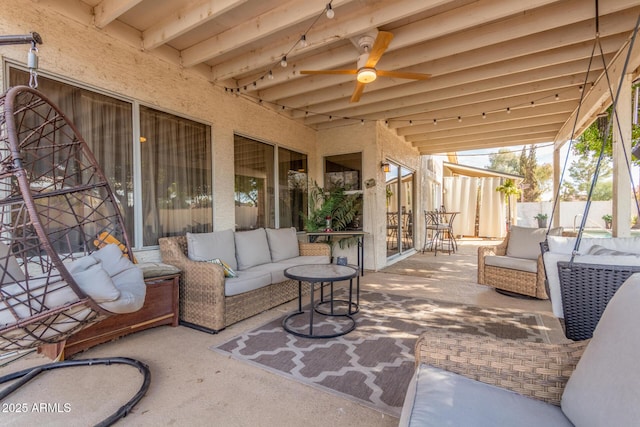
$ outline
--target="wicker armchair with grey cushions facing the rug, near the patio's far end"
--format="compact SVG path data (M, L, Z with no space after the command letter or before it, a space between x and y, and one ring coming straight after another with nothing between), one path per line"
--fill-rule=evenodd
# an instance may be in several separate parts
M498 245L478 247L478 283L520 295L548 299L540 242L545 228L511 226ZM554 228L550 235L562 234Z

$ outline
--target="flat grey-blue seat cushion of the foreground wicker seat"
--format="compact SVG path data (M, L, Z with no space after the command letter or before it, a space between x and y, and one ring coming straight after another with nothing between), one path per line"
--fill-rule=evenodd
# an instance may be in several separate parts
M572 426L559 407L442 369L416 369L400 426Z

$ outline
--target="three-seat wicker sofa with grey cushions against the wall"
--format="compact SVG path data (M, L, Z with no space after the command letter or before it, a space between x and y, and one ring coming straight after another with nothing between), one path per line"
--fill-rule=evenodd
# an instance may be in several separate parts
M284 277L297 264L326 264L330 247L298 241L295 229L187 233L159 240L162 261L182 271L180 323L217 332L298 296ZM225 277L225 267L237 277Z

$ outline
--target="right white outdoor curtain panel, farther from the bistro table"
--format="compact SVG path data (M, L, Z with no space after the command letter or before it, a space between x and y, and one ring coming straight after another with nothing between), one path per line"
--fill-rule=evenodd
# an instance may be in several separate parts
M480 214L478 235L481 237L504 237L506 235L505 200L496 191L500 178L480 179Z

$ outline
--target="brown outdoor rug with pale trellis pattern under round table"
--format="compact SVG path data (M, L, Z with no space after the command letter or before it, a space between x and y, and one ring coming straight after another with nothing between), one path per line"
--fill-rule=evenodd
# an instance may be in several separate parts
M414 345L425 330L549 341L538 314L370 291L361 291L354 317L356 329L338 338L296 337L279 318L211 349L397 417L414 371ZM305 323L308 315L292 320ZM316 325L318 332L336 327Z

